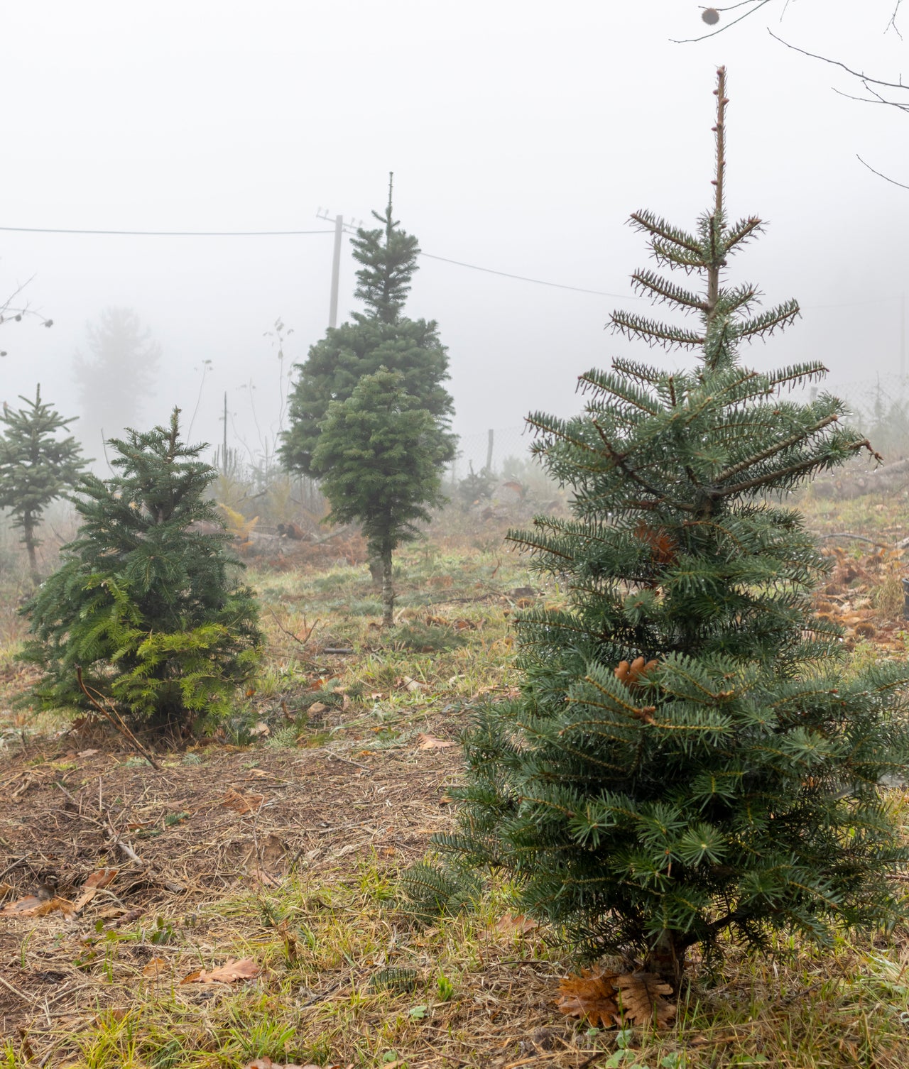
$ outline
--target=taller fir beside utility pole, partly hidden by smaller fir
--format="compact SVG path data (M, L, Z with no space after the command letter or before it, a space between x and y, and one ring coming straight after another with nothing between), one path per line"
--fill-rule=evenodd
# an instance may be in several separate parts
M330 328L317 342L291 391L280 454L284 466L304 475L322 475L312 465L320 423L332 401L344 401L364 375L380 368L401 372L404 389L419 400L436 420L447 421L452 401L444 383L448 356L438 339L438 325L430 320L411 320L403 314L411 280L417 269L416 237L400 229L391 210L391 183L385 213L372 213L381 228L360 228L351 239L356 273L356 296L367 311L354 312L352 322ZM449 438L448 460L454 453Z

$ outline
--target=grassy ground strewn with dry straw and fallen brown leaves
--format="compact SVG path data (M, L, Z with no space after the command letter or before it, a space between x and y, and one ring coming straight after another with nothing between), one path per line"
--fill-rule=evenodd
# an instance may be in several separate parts
M856 656L905 655L892 579L909 570L896 548L909 526L857 526L829 501L810 523L888 546L826 540L835 569L819 598ZM733 948L722 975L695 964L666 1027L617 1033L558 1008L577 970L507 885L476 912L415 924L398 873L451 828L452 743L478 703L517 693L509 618L541 591L497 539L414 546L401 564L390 634L372 626L381 605L359 562L257 564L258 686L215 739L159 754L160 771L96 721L13 710L30 676L7 621L0 1066L909 1062L906 932L828 951L781 941L765 960Z

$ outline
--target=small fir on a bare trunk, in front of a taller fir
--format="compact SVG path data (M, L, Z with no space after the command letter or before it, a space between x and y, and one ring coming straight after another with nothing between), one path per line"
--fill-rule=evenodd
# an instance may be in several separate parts
M363 525L370 555L382 566L383 623L394 622L391 554L417 538L415 526L443 500L442 468L451 439L399 371L360 378L345 401L333 401L312 456L324 471L322 492L334 523Z

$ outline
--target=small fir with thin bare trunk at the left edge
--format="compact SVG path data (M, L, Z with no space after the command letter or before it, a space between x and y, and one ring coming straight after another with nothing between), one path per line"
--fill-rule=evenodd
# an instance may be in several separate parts
M88 461L74 437L60 437L76 416L64 419L42 401L40 385L34 401L20 400L24 408L4 404L0 416L0 508L10 509L13 526L21 528L32 583L37 585L36 531L44 510L75 485Z

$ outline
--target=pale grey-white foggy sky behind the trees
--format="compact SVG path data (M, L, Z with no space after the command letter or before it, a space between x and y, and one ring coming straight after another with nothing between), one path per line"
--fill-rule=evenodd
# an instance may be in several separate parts
M728 208L770 224L736 272L803 307L750 360L819 358L843 384L894 375L909 190L856 154L909 184L906 117L837 95L860 87L766 28L895 81L909 12L904 42L884 33L894 0L798 0L781 21L783 7L675 44L707 32L689 0L7 4L0 226L324 232L0 231L0 297L30 279L29 301L55 322L0 327L2 398L40 381L76 414L87 324L132 308L160 345L157 382L137 388L144 423L179 404L194 439L218 443L227 391L230 445L257 452L279 408L266 331L282 319L299 360L327 325L333 239L317 212L369 219L394 170L396 215L426 253L611 295L420 261L407 312L440 323L456 430L569 415L580 372L647 352L603 329L645 262L625 223L649 207L691 226L709 204L720 63ZM353 289L345 242L342 319Z

